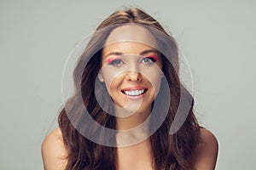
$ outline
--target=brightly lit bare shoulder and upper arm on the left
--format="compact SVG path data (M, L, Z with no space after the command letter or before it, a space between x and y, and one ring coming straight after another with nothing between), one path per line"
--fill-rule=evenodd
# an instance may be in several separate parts
M44 170L64 170L67 165L67 150L60 128L49 133L41 146Z

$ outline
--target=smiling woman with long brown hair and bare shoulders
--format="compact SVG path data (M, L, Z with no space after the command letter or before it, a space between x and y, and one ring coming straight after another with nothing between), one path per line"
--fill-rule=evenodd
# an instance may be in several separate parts
M44 168L214 169L218 142L195 119L177 57L150 15L111 14L79 58L75 93L42 144Z

